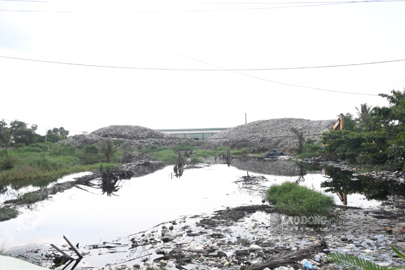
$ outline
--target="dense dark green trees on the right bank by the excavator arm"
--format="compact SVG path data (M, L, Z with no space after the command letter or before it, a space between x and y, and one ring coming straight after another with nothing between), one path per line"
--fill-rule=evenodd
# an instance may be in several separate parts
M357 116L345 115L343 130L325 132L326 151L353 164L382 165L385 169L404 170L405 89L379 94L389 106L356 107Z

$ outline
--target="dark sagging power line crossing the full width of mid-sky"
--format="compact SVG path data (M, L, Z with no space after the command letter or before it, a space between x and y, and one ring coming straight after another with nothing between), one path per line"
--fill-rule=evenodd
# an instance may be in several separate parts
M98 67L98 68L115 68L115 69L135 69L135 70L167 70L167 71L265 71L265 70L294 70L294 69L319 69L319 68L335 68L335 67L348 67L348 66L361 66L361 65L372 65L372 64L382 64L391 62L405 61L405 59L399 60L388 60L379 62L368 62L368 63L357 63L357 64L344 64L344 65L329 65L329 66L313 66L313 67L293 67L293 68L272 68L272 69L163 69L163 68L135 68L135 67L121 67L121 66L105 66L105 65L91 65L91 64L77 64L77 63L66 63L66 62L56 62L56 61L45 61L36 60L28 58L18 58L10 56L2 56L3 58L25 60L25 61L35 61L50 64L63 64L63 65L74 65L74 66L86 66L86 67ZM206 64L206 63L205 63Z

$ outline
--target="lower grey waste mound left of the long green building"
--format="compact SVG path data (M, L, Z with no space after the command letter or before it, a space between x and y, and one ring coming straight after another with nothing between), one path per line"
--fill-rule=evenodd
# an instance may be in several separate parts
M94 130L88 134L69 137L61 142L62 145L73 145L82 149L87 144L97 144L108 139L120 139L123 147L145 149L151 146L172 147L182 142L199 146L201 142L193 139L180 138L175 135L159 132L151 128L136 125L111 125Z

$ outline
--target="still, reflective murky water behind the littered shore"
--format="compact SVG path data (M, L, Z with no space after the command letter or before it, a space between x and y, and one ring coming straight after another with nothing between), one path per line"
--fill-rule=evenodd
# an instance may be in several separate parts
M246 157L234 159L230 166L213 159L207 161L211 163L186 169L181 177L173 175L172 165L139 166L136 177L121 180L107 191L98 186L80 186L21 207L16 219L0 223L0 243L8 254L22 254L26 250L47 249L51 243L65 244L62 235L80 245L112 241L181 216L261 204L266 187L284 181L297 181L333 194L337 204L349 206L374 207L388 194L404 193L404 185L367 179L353 181L350 173L338 169L304 167L289 160ZM57 182L86 174L69 175ZM257 188L246 188L240 181L246 175L263 176L267 181ZM0 187L0 203L38 189ZM83 263L105 265L103 260L106 257L90 256Z

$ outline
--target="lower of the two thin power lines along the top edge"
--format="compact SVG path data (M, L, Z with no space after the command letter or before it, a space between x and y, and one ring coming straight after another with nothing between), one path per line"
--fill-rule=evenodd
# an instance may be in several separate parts
M21 0L20 0L21 1ZM275 6L275 7L253 7L253 8L221 8L221 9L195 9L195 10L146 10L146 11L72 11L72 10L17 10L17 9L0 9L0 11L9 12L54 12L54 13L163 13L163 12L208 12L208 11L232 11L232 10L264 10L276 8L291 8L291 7L311 7L336 4L350 3L366 3L366 2L403 2L405 0L364 0L364 1L347 1L347 2L330 2L308 5L290 5L290 6ZM40 1L38 1L40 2ZM57 3L57 2L55 2Z

